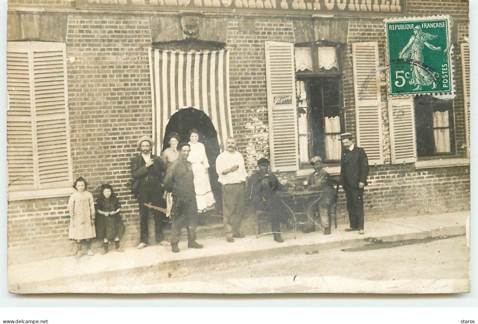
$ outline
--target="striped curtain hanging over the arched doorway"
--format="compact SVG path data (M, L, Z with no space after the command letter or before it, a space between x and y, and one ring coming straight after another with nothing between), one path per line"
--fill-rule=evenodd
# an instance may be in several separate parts
M232 136L229 101L229 52L150 49L153 136L161 150L171 116L185 107L202 110L217 131L221 149Z

